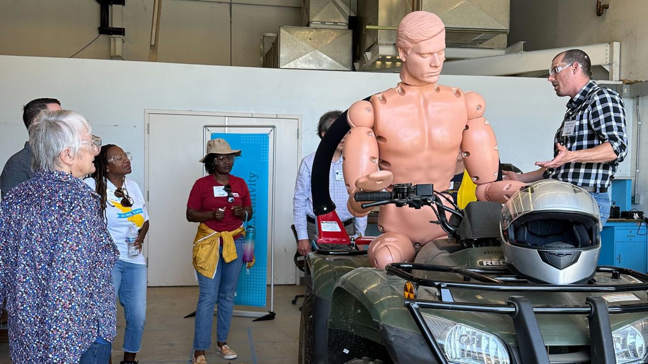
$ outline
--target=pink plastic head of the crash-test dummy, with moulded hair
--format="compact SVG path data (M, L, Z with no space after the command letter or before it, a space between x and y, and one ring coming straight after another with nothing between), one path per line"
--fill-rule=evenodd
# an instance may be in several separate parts
M431 12L411 12L400 21L396 48L400 78L410 85L434 84L445 60L445 25Z

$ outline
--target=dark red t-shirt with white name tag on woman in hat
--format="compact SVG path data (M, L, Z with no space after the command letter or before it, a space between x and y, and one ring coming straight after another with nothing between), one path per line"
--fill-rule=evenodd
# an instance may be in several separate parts
M229 175L229 185L234 195L234 202L227 202L227 192L222 183L216 182L213 175L205 176L191 188L187 207L198 211L213 211L218 208L225 208L225 216L222 220L211 219L205 221L205 225L214 231L233 231L238 229L243 221L232 212L232 206L250 207L252 201L249 198L248 185L245 180Z

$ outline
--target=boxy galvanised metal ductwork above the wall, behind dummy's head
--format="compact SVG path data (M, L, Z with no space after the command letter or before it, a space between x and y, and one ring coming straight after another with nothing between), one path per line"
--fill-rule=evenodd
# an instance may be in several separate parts
M464 58L459 55L471 49L503 54L509 7L510 0L304 0L305 27L280 27L270 47L272 35L262 35L262 63L274 68L397 71L396 28L415 10L433 12L445 23L448 60Z

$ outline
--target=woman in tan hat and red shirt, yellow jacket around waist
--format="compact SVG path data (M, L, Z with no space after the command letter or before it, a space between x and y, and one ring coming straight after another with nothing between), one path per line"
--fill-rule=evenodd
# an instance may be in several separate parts
M243 220L252 217L248 185L244 179L229 174L238 155L240 150L233 150L225 139L207 142L207 154L200 162L205 164L209 175L194 183L187 202L187 220L200 222L193 253L200 288L194 329L194 364L207 363L205 350L211 347L216 301L216 352L225 359L237 358L226 341L238 275L243 266Z

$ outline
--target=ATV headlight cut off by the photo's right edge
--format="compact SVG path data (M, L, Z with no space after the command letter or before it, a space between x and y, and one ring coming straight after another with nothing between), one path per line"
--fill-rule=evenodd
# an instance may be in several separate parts
M648 356L648 319L642 319L612 332L617 364L645 363Z

